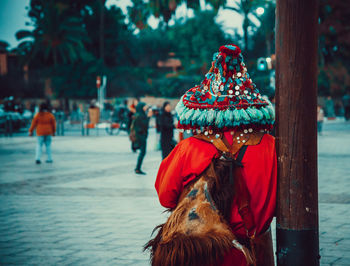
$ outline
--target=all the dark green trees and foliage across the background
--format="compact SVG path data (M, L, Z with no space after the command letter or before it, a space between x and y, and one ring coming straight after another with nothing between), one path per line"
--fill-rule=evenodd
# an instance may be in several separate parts
M103 74L108 77L108 96L178 97L201 81L218 47L233 42L244 44L243 55L253 80L270 94L269 75L256 71L256 59L274 53L275 1L237 0L227 6L226 0L206 0L213 9L201 12L199 0L132 0L128 20L120 8L107 8L105 2L31 0L28 15L34 30L16 34L21 40L16 52L23 56L23 64L29 62L29 83L2 77L2 84L8 84L7 88L16 84L23 95L30 90L40 95L44 79L49 78L57 97L94 97L96 76ZM344 78L350 69L350 13L345 2L320 1L320 94L338 93L350 86L350 78ZM195 17L178 19L169 26L172 14L183 3L195 10ZM264 14L258 16L257 7L264 7ZM219 8L243 16L243 36L237 31L234 36L225 35L215 21ZM152 15L160 18L157 29L147 26ZM252 23L252 16L260 25ZM7 43L0 42L0 52L7 50ZM158 67L159 61L169 58L181 61L176 72ZM22 68L17 75L23 76Z

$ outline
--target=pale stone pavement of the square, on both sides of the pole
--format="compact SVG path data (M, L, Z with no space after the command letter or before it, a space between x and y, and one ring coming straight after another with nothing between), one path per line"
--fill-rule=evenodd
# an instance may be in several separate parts
M35 139L0 138L0 265L149 265L142 246L166 219L154 190L152 130L146 176L125 133L53 139L53 164L34 164ZM322 265L350 265L350 124L319 137Z

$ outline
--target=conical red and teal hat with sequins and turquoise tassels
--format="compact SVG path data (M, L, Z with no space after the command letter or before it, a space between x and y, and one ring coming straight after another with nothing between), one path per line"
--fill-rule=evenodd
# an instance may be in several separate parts
M225 131L270 130L275 112L250 78L241 49L221 46L200 85L188 90L176 106L180 129Z

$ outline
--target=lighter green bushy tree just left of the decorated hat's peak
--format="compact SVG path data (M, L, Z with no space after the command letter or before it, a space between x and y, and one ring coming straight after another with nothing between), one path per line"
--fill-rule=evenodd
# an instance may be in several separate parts
M142 69L148 65L147 75L133 71L138 88L143 87L146 94L179 97L201 81L210 68L213 53L230 41L215 22L215 13L207 11L196 13L192 19L177 21L167 30L145 29L135 42L137 49L133 56L138 59L138 66ZM182 69L171 75L171 70L157 68L157 62L170 58L170 52L182 63Z

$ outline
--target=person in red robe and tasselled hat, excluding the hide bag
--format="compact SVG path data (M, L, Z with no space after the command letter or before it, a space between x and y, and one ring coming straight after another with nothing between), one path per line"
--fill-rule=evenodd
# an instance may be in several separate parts
M216 140L222 140L236 159L245 147L236 175L248 191L251 215L240 209L237 193L227 222L239 242L254 249L256 265L274 265L270 224L276 207L277 160L275 138L269 134L274 110L249 77L238 46L220 47L202 83L186 92L176 111L178 127L197 137L181 141L162 161L155 182L161 205L176 208L184 188L222 156ZM247 260L232 248L215 265L243 266Z

